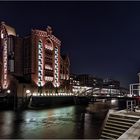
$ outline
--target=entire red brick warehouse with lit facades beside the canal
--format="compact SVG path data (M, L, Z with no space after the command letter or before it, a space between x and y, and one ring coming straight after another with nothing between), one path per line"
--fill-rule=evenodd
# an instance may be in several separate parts
M61 56L61 41L46 31L32 30L29 36L20 38L15 29L1 22L0 87L3 91L26 90L38 95L60 92L69 82L70 61ZM11 82L12 81L12 82ZM67 81L67 82L66 82ZM10 85L15 86L14 88ZM68 88L68 86L66 86Z

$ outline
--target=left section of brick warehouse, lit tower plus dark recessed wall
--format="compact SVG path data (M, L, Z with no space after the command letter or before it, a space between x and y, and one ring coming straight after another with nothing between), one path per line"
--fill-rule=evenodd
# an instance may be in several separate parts
M22 40L17 37L15 29L4 22L0 24L0 34L0 89L6 91L12 84L14 85L14 75L23 75L22 66L20 67L23 60L21 54Z

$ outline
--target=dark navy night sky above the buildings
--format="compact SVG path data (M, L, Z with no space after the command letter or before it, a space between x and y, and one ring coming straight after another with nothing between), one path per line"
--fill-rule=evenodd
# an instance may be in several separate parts
M0 20L20 36L52 26L72 73L138 82L140 2L0 2Z

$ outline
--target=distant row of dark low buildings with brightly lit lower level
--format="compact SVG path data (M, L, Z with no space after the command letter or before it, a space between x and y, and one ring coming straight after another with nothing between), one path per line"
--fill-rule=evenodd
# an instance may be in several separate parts
M128 89L120 87L120 82L113 79L101 79L88 74L71 74L72 92L79 95L124 96Z

